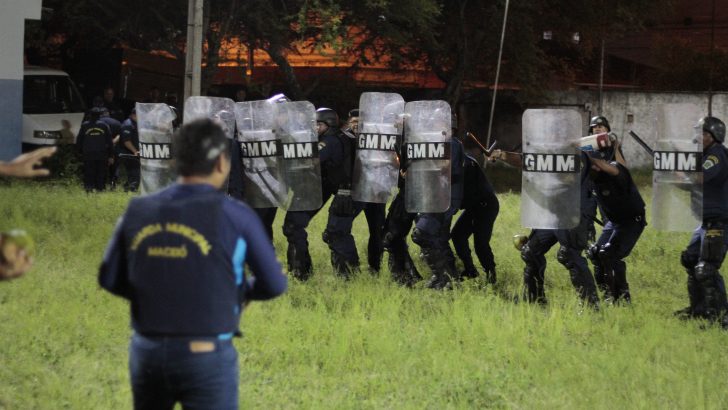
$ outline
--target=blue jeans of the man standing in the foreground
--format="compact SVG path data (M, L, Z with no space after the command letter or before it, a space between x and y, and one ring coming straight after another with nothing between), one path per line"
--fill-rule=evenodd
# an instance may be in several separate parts
M135 409L238 408L238 353L231 340L145 337L129 346Z

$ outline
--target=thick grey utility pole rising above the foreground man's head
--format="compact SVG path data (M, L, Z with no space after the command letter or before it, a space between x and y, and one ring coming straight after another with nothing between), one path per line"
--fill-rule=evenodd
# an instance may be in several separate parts
M202 15L205 0L188 0L185 100L200 95L202 78Z

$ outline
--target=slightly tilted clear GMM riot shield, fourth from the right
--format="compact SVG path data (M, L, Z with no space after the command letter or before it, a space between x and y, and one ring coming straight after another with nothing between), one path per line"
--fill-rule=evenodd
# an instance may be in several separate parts
M404 99L393 93L363 93L359 99L359 134L351 196L385 204L397 187Z

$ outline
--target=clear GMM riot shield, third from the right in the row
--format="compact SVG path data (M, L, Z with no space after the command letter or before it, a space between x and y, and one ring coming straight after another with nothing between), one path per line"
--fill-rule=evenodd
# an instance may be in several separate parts
M405 209L445 212L450 207L450 105L412 101L404 111Z

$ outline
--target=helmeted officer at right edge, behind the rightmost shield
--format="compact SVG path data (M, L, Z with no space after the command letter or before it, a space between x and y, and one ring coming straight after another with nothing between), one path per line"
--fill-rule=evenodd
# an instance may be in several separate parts
M690 306L676 313L686 318L721 320L723 327L728 327L725 283L719 272L728 249L726 127L715 117L704 117L697 126L703 138L703 223L680 256L688 274Z

